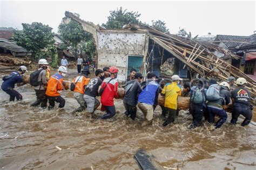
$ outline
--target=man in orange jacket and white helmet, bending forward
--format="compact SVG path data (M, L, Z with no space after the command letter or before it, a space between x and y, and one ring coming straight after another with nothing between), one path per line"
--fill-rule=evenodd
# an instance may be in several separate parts
M68 69L66 69L66 67L60 66L58 69L58 73L52 75L48 81L48 86L45 94L49 100L49 110L52 110L54 108L55 101L59 103L58 108L63 108L65 106L65 99L60 96L58 91L64 90L63 81L67 72Z

